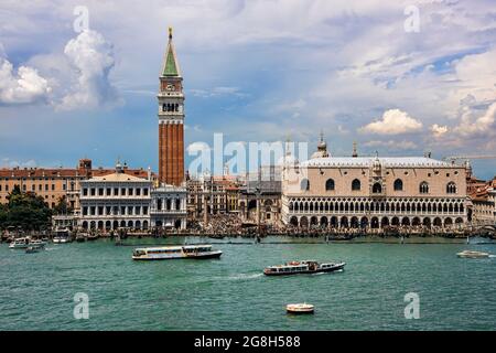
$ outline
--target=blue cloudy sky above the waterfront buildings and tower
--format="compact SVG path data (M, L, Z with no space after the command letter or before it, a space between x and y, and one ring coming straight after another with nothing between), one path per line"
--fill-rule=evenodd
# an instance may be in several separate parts
M496 154L493 0L0 3L0 165L158 170L168 28L198 143L333 156ZM474 159L493 178L496 159Z

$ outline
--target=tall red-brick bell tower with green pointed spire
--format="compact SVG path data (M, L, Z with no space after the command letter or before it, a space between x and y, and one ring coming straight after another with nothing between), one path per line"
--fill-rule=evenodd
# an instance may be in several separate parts
M159 181L181 185L184 181L184 94L183 77L172 43L169 43L160 74L159 95Z

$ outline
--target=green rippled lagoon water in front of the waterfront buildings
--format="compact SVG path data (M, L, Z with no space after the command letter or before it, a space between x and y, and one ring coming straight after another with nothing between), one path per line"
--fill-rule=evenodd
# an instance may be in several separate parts
M1 244L0 330L496 329L496 258L455 256L495 254L496 244L225 240L215 247L224 252L219 260L140 263L131 260L132 246L109 240L50 244L37 254ZM347 266L325 275L261 275L266 266L310 258ZM74 319L76 292L89 297L87 320ZM418 320L405 319L407 292L420 297ZM314 315L285 314L287 303L303 301L315 306Z

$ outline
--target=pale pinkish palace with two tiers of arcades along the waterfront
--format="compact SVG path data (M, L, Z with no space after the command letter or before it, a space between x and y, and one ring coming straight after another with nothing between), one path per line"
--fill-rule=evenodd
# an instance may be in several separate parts
M464 165L429 157L332 157L323 141L319 151L284 165L284 224L380 228L467 222Z

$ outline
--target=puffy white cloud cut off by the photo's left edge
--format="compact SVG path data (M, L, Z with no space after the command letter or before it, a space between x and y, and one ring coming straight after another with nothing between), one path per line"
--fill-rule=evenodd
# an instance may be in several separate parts
M32 104L47 98L52 88L37 71L20 66L14 73L13 65L0 52L0 104Z

